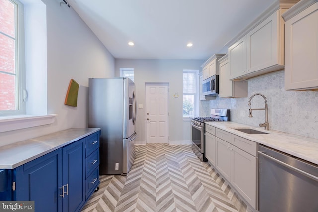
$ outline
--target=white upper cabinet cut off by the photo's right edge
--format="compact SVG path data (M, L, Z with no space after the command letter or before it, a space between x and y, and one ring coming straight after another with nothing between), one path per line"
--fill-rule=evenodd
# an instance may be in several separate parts
M285 89L318 89L318 2L300 1L283 17Z

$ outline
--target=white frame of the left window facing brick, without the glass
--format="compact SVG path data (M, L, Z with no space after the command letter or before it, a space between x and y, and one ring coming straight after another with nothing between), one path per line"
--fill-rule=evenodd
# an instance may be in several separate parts
M22 115L26 113L25 87L25 42L24 6L19 0L8 0L15 4L15 104L16 110L0 110L0 116ZM8 36L2 33L5 36ZM10 37L10 36L9 36Z

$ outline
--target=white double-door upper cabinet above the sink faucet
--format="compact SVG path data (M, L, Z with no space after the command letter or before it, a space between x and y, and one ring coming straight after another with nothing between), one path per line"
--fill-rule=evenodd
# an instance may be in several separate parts
M284 69L282 13L296 2L275 2L236 36L237 40L228 43L231 80L246 80Z

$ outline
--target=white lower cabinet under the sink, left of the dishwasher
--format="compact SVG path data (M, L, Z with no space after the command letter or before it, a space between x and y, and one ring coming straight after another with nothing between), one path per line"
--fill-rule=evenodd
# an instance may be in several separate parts
M257 209L257 143L215 129L215 168Z

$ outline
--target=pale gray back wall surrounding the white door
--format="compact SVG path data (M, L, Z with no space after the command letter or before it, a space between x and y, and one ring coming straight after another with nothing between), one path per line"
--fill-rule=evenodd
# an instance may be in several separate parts
M137 109L137 141L146 141L146 82L169 83L169 140L171 143L190 141L190 122L182 119L182 71L201 70L203 63L204 60L115 60L116 76L119 76L120 68L134 68L137 104L144 106ZM174 98L174 93L179 97Z

